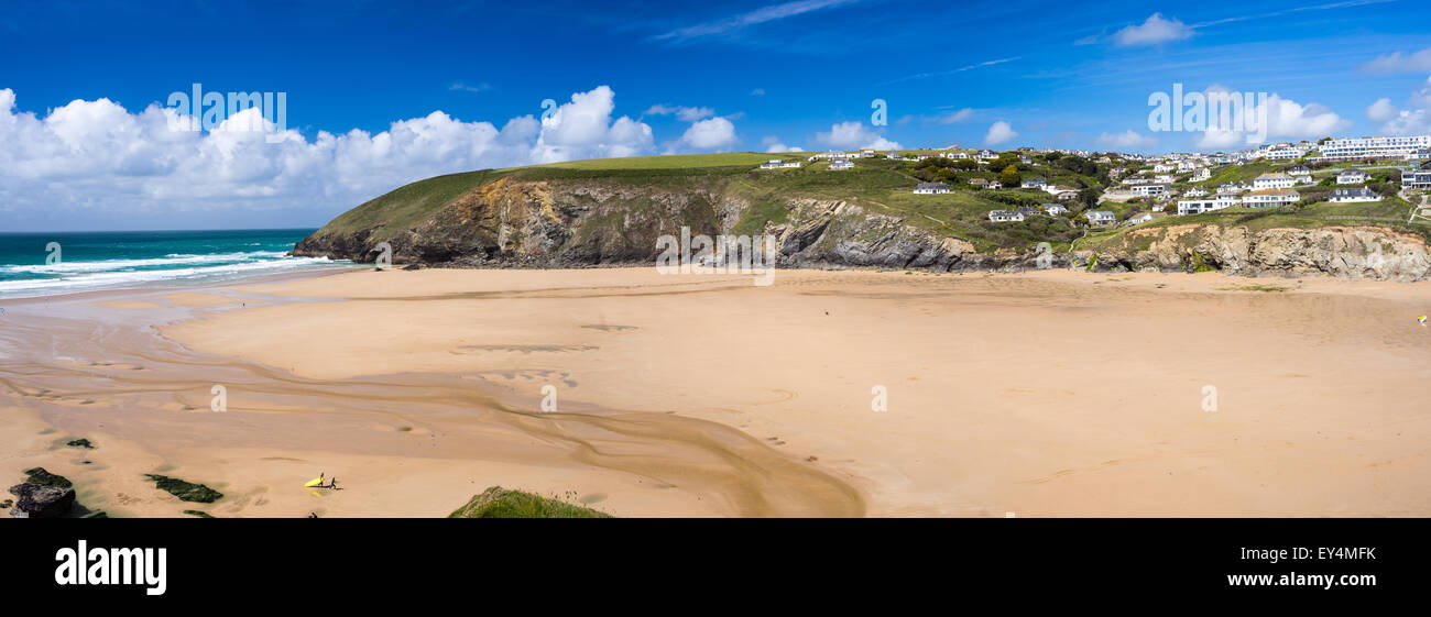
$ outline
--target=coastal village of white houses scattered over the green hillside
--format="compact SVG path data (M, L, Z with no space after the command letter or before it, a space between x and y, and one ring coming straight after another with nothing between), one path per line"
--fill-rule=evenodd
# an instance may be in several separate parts
M850 173L880 166L910 179L912 196L983 203L985 229L1046 220L1068 231L1132 227L1166 217L1308 213L1431 224L1431 136L1325 137L1232 153L1129 154L1065 149L824 151L771 159L761 170ZM953 221L970 224L972 221ZM1050 224L1052 223L1052 224ZM1065 231L1059 236L1056 231ZM1027 240L1036 240L1037 231Z

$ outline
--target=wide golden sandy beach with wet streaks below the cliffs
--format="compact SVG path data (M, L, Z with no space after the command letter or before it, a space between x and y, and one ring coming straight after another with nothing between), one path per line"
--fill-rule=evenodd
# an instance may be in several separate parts
M112 516L196 507L155 471L215 516L494 484L617 516L1431 514L1428 283L363 270L7 307L4 473Z

